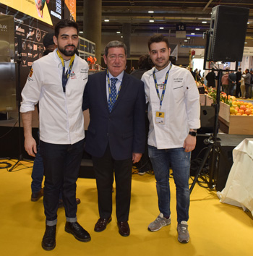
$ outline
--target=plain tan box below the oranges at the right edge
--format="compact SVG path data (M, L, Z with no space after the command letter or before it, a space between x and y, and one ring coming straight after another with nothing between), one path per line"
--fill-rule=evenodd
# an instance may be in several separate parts
M253 135L253 116L231 116L230 106L220 102L220 130L229 135Z

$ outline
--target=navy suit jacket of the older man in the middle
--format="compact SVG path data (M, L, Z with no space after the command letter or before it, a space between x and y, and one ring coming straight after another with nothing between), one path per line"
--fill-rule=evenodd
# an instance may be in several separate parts
M115 160L132 158L145 150L145 91L142 81L124 72L121 90L111 113L106 95L106 72L91 74L84 92L82 109L89 108L85 150L102 157L110 146Z

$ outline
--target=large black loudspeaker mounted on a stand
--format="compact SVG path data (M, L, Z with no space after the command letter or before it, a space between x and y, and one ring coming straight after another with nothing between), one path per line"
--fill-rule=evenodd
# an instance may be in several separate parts
M207 61L241 61L249 8L218 5L212 9L207 34Z

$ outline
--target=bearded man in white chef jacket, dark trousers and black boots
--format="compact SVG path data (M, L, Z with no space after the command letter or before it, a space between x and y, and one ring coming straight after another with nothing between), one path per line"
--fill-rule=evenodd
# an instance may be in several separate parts
M87 83L88 64L75 54L79 43L78 26L61 20L55 27L53 42L57 48L33 62L22 90L20 112L24 126L25 150L37 153L32 135L32 119L39 102L40 153L45 174L44 209L46 231L42 247L56 246L59 193L65 206L65 231L81 242L90 234L77 222L76 181L85 144L82 94Z

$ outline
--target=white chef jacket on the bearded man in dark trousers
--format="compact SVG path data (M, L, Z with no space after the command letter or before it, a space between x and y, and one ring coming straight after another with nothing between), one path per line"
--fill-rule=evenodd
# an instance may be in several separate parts
M69 61L65 65L69 67ZM39 101L40 140L52 144L74 144L85 137L82 96L88 76L88 64L75 56L66 93L62 88L62 64L56 53L33 62L22 90L20 112L33 111Z

